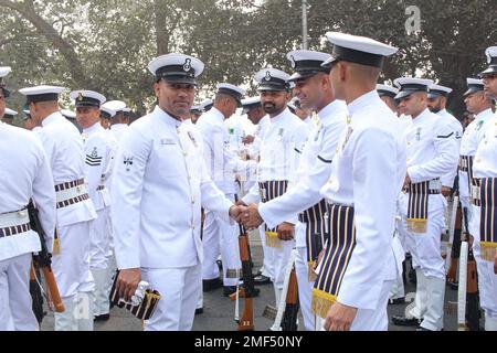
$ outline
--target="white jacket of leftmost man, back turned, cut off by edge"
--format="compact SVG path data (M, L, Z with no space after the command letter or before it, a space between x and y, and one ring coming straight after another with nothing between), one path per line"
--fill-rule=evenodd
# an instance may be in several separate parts
M2 122L0 151L0 214L23 210L33 199L50 252L55 228L55 189L43 147L33 132ZM2 220L0 228L12 225L10 222ZM0 261L40 249L39 235L33 231L0 237Z

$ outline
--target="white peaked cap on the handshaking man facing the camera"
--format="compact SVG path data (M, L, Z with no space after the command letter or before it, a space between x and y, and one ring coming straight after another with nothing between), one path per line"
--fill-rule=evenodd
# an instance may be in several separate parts
M198 77L204 68L204 64L197 57L171 53L154 58L148 64L148 69L157 81L166 79L170 83L197 84Z

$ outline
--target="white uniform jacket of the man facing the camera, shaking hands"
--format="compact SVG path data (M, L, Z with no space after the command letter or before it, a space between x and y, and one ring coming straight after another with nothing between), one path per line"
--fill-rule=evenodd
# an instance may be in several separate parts
M112 199L119 269L197 265L201 206L228 222L232 205L209 178L198 130L158 106L121 140Z

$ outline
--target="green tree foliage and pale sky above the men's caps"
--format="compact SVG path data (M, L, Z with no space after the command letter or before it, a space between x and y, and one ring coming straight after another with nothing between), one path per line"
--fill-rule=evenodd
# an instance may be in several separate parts
M395 45L382 79L437 79L454 88L456 113L465 78L485 66L484 50L497 41L495 0L307 2L309 49L329 51L327 31ZM421 31L412 34L408 6L421 13ZM224 81L253 89L253 74L266 65L290 71L286 53L302 44L302 0L0 0L0 65L12 66L12 88L97 89L141 114L154 103L146 67L157 55L198 55L205 63L204 96ZM9 106L21 103L14 95Z

